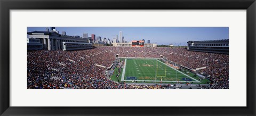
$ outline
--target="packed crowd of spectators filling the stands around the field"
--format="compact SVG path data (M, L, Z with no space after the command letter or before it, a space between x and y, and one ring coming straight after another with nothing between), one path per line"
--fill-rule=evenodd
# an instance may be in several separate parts
M132 85L106 77L106 70L119 57L164 57L209 75L213 88L228 88L228 55L191 52L169 47L99 46L80 51L28 51L27 88L166 88L167 85ZM97 65L95 65L97 64ZM101 67L102 66L102 67Z

